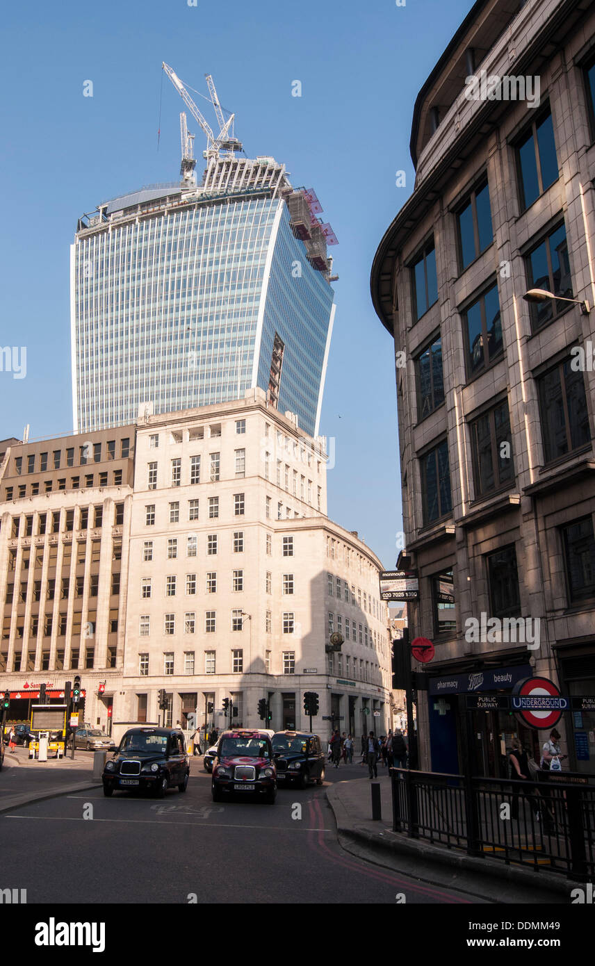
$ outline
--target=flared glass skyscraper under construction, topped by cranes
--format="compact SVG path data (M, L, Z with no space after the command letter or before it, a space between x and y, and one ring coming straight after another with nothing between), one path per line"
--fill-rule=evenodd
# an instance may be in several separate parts
M315 196L314 196L315 198ZM318 435L333 317L325 225L272 158L213 159L85 215L71 246L76 432L261 386Z

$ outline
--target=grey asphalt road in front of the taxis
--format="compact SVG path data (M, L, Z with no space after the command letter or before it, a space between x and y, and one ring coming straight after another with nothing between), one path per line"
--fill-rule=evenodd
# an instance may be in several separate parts
M360 777L355 765L330 769L326 785ZM98 787L3 813L0 831L2 885L26 889L28 903L482 901L345 852L324 787L280 789L272 806L213 804L202 759L185 794L104 798Z

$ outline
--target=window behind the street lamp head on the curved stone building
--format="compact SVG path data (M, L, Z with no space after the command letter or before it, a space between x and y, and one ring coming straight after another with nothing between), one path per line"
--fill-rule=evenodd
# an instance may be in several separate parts
M566 226L562 223L528 253L525 259L528 289L545 289L560 298L574 298ZM532 302L531 328L534 332L547 326L568 308L568 302L558 302L546 298L542 302Z

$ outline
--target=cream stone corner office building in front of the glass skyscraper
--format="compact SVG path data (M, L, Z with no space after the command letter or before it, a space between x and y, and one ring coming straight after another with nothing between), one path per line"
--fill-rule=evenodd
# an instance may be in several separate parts
M389 725L381 562L326 517L326 454L261 389L150 415L136 436L120 720L342 730ZM340 652L326 652L340 632ZM165 714L157 707L166 692ZM374 712L377 712L375 715ZM229 721L229 718L227 719Z

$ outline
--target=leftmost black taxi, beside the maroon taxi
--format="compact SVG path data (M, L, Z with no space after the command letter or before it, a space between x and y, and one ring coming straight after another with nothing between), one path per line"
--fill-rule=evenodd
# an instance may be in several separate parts
M163 798L174 786L184 792L189 774L184 733L179 728L132 727L123 735L117 752L105 762L103 794L132 788L153 791Z

